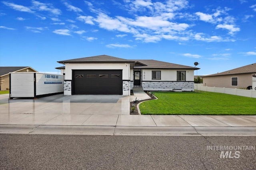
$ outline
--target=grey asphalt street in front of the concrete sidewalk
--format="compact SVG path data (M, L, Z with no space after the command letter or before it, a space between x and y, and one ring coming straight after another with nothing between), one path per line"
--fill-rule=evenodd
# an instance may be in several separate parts
M0 169L249 170L256 169L256 150L249 150L255 145L256 137L248 136L0 134ZM229 156L220 158L221 151Z

